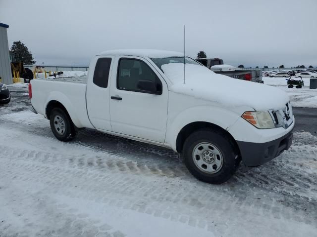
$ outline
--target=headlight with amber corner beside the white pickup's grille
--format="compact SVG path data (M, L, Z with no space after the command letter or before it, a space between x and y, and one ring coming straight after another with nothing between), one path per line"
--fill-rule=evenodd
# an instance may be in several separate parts
M245 112L242 118L246 119L257 128L274 128L275 124L268 111Z

